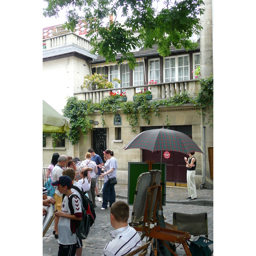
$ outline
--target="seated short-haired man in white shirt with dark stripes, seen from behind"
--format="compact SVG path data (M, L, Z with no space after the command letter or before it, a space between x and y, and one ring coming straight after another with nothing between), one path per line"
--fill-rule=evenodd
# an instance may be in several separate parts
M115 229L110 233L113 239L103 250L103 256L121 256L136 250L142 244L137 231L128 224L129 206L123 201L116 201L110 209L111 226ZM139 255L137 253L135 255Z

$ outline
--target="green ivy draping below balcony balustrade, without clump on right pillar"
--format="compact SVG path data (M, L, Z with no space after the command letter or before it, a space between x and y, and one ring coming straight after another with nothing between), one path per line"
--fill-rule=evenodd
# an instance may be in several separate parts
M81 129L82 134L86 135L88 133L92 128L90 114L95 110L98 110L101 114L101 124L103 127L105 126L105 114L115 115L117 111L122 111L125 114L129 125L131 125L131 132L135 132L138 116L144 119L147 125L150 125L149 113L152 112L155 116L158 116L159 113L157 112L160 105L171 106L191 102L192 100L186 92L177 97L173 97L173 99L170 98L151 102L147 100L145 94L140 93L134 97L133 102L119 102L111 96L104 97L100 103L92 103L90 100L79 100L75 96L69 97L67 99L67 105L62 110L63 115L70 118L70 125L72 127L70 132L67 132L67 139L74 145L79 141L79 128ZM86 136L84 137L84 140L86 140Z

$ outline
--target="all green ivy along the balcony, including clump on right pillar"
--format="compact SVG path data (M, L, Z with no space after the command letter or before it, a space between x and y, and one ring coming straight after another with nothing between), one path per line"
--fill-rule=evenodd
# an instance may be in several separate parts
M71 129L67 132L66 137L75 145L79 142L80 130L84 135L84 141L87 139L87 134L90 129L92 129L90 116L94 111L99 111L101 114L101 124L105 126L104 115L113 114L115 115L118 111L122 111L125 114L125 119L131 126L131 132L135 132L135 126L138 123L138 117L140 116L145 124L150 125L150 113L154 116L159 116L159 107L170 107L179 106L186 103L192 103L200 109L198 114L206 116L207 108L213 106L213 76L206 79L199 80L201 84L201 90L198 92L198 96L193 100L189 93L183 92L180 95L175 94L175 96L169 99L151 100L148 101L146 95L143 93L138 93L134 96L133 102L121 102L117 101L114 97L106 96L100 103L92 103L90 99L84 101L79 100L77 97L69 97L67 99L67 104L62 110L63 115L70 118ZM209 116L208 124L210 126L213 121L213 115ZM167 116L167 124L169 119Z

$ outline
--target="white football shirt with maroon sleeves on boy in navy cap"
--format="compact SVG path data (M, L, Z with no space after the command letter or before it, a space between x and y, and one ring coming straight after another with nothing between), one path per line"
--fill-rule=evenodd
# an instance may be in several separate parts
M71 193L70 195L72 195ZM61 212L71 214L70 208L68 207L69 196L65 196L61 205ZM74 214L81 211L80 200L77 196L72 198L72 206ZM60 244L76 244L77 236L70 230L70 218L60 217L58 222L58 242Z

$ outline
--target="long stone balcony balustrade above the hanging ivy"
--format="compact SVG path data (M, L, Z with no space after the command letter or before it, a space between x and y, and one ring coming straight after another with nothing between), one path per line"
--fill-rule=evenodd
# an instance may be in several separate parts
M186 80L186 81L175 81L167 82L160 84L150 84L142 86L133 86L133 87L120 87L104 90L91 90L89 91L86 88L81 88L80 92L74 93L78 99L92 99L93 103L99 103L103 97L108 96L113 90L119 91L119 93L125 91L127 101L133 101L134 95L136 95L136 88L146 88L151 87L152 100L157 99L169 99L170 97L175 96L175 90L177 94L183 92L188 92L191 97L197 96L198 90L200 90L200 84L198 80ZM144 90L144 89L143 89Z

